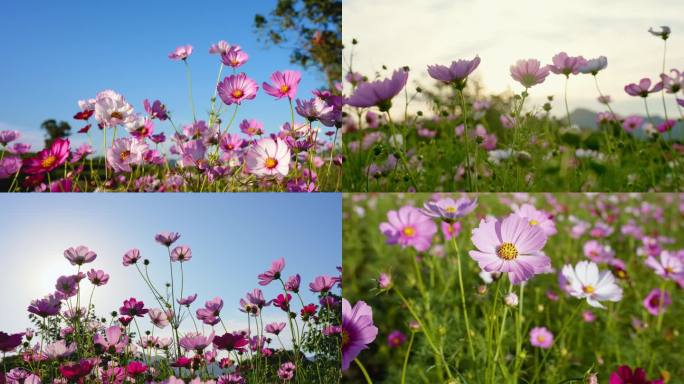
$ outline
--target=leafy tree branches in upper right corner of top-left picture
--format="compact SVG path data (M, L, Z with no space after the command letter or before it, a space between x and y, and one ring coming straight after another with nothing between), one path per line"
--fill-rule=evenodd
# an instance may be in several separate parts
M254 16L254 27L266 44L294 42L290 62L316 67L330 89L342 80L342 0L278 0L268 18Z

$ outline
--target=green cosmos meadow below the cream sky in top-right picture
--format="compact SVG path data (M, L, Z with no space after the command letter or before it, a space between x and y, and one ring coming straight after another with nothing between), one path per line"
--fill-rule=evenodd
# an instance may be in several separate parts
M662 67L623 79L622 92L643 101L641 111L625 116L614 111L600 85L612 76L606 56L559 50L553 57L511 57L517 87L487 95L471 80L488 60L476 52L424 68L383 66L375 74L360 73L354 48L363 39L352 40L346 55L343 190L681 190L684 76L682 63L667 60L668 40L676 32L661 26L643 33L653 39L639 47L641 54L662 56ZM409 85L416 73L427 74L430 83ZM550 76L564 78L564 89L535 94L535 86ZM570 112L568 83L580 81L593 83L593 95L583 96L596 100L598 113ZM547 101L531 103L531 95ZM563 100L563 110L552 110L554 98ZM425 110L409 112L417 102Z

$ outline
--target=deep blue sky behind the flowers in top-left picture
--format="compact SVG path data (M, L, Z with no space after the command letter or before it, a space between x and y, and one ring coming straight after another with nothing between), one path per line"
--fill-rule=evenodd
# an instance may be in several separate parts
M260 86L256 99L240 107L237 121L255 118L264 122L267 131L276 131L290 119L290 108L287 101L263 93L261 83L275 70L302 68L290 64L288 48L266 48L257 41L254 15L267 15L275 3L3 1L0 130L21 130L24 142L42 148L39 127L45 119L81 128L84 124L72 119L77 101L107 88L123 94L136 111L143 111L145 98L160 99L174 113L176 123L189 123L192 112L184 65L167 58L184 44L195 48L190 57L193 93L198 114L204 112L206 118L219 68L218 56L208 49L223 39L250 55L240 69ZM299 96L310 97L311 90L325 84L323 75L314 70L302 77ZM224 121L229 117L224 114ZM160 128L167 136L172 131L168 122L155 130ZM76 142L85 141L79 137L83 135L73 136Z

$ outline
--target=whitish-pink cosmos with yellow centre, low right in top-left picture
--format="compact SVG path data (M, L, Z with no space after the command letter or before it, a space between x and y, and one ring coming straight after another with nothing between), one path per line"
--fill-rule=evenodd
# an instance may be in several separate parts
M290 156L290 147L279 137L263 138L247 151L245 170L256 176L287 176Z

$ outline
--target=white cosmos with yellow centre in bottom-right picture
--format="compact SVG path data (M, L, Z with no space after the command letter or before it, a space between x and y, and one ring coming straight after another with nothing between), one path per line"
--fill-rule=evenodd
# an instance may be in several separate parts
M601 301L622 299L622 288L615 283L613 274L609 270L599 272L595 263L580 261L574 268L568 264L563 267L562 274L570 296L586 298L592 307L605 308Z

